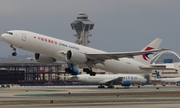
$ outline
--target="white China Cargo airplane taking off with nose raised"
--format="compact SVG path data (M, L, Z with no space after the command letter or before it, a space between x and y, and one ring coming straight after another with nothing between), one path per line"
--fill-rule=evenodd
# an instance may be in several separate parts
M88 67L84 71L91 76L96 75L92 68L113 73L151 73L154 68L149 67L149 63L153 52L167 50L158 49L162 41L158 38L141 51L109 53L30 31L11 30L1 37L15 51L13 56L17 55L16 48L20 48L34 52L37 62L54 63L61 60L70 63L71 67L74 64Z

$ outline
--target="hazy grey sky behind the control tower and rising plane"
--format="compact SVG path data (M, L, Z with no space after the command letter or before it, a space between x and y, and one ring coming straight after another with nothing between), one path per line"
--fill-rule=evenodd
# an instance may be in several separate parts
M0 34L28 30L75 42L70 23L79 12L95 23L89 47L139 51L161 38L160 48L180 54L180 0L0 0ZM0 42L0 57L11 55L9 46ZM34 54L20 49L17 53Z

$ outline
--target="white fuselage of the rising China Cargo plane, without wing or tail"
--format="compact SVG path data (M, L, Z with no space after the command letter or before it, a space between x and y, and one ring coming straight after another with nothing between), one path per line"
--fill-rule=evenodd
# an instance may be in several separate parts
M13 31L13 35L2 34L3 39L17 48L43 54L46 56L53 57L57 60L66 61L62 52L68 50L75 50L82 53L106 53L101 50L93 49L86 46L77 45L64 40L48 37L45 35L16 30ZM78 64L87 67L86 64ZM98 68L113 73L150 73L149 70L141 70L140 66L146 66L133 58L120 58L119 60L105 60L103 64L93 65L92 68Z

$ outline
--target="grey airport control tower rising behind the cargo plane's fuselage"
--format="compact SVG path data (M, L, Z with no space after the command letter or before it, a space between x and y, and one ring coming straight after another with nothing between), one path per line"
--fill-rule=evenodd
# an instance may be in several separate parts
M89 31L94 27L94 23L88 20L88 15L85 12L80 12L77 15L77 20L71 23L71 27L77 33L73 35L77 37L76 43L88 46L88 43L90 43L88 37L92 36L91 34L89 35Z

